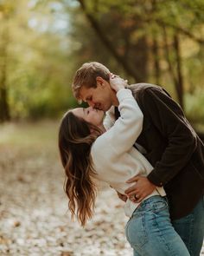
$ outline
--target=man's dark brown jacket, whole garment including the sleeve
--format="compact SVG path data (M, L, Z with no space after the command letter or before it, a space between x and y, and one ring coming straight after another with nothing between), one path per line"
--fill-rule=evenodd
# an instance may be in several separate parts
M154 167L147 178L164 187L171 219L180 219L204 194L204 145L165 90L149 83L132 84L130 89L143 112L137 143Z

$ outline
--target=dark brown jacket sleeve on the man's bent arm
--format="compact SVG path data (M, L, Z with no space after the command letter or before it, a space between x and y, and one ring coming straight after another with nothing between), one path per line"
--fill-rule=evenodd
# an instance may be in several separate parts
M185 167L196 148L196 134L182 108L163 89L148 88L143 92L145 115L168 141L160 161L148 175L149 181L163 186ZM154 109L152 111L152 109Z

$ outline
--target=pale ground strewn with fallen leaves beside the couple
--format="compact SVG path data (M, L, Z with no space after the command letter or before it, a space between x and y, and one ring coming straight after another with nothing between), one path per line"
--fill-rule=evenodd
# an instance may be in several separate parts
M55 122L0 126L0 177L0 255L132 255L111 188L85 229L70 220Z

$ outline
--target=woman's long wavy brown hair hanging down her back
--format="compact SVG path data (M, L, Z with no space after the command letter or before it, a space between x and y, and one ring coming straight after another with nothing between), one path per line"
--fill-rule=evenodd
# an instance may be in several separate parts
M92 130L92 133L91 133ZM61 162L65 169L64 190L69 199L68 207L82 226L92 218L96 186L92 181L92 143L101 134L99 128L68 111L62 118L59 130Z

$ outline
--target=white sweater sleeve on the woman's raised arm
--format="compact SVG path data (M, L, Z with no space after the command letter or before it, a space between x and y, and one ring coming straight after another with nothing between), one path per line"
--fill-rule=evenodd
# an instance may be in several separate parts
M105 148L109 148L108 154L124 154L133 146L143 128L143 113L137 105L130 89L120 89L117 93L118 110L120 117L112 128L100 135L95 141L94 148L105 154ZM111 150L112 148L112 150ZM107 150L106 150L107 151ZM112 153L111 153L112 152Z

